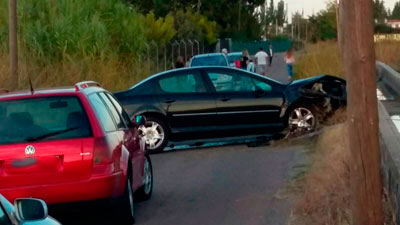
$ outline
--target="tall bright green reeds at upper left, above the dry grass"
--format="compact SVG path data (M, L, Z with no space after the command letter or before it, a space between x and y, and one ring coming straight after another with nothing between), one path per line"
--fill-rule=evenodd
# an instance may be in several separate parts
M6 1L2 2L0 10L7 12ZM18 3L20 43L29 54L41 58L140 52L146 41L142 15L120 0ZM1 15L0 40L7 40L7 13Z

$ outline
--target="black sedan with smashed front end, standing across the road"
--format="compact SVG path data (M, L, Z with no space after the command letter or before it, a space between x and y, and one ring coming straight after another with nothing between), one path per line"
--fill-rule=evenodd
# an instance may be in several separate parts
M149 152L168 141L309 132L346 104L346 82L321 75L290 84L227 67L156 74L115 93L131 118L144 115Z

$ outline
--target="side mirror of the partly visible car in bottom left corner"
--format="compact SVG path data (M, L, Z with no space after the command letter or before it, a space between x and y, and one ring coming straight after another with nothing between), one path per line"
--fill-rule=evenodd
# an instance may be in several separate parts
M43 200L19 198L14 201L17 219L24 221L44 220L48 216L47 205Z

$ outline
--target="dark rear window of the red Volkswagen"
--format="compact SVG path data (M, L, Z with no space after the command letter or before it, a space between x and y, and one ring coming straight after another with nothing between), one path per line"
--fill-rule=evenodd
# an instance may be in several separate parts
M0 102L0 145L92 136L76 96Z

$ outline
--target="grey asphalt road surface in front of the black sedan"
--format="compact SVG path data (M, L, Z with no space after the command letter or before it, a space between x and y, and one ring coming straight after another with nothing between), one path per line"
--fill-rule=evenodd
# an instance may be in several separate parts
M171 151L152 155L154 192L136 204L138 225L286 225L291 202L278 196L302 146L245 145ZM64 225L124 224L102 202L50 208Z

